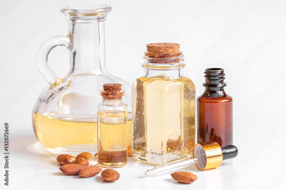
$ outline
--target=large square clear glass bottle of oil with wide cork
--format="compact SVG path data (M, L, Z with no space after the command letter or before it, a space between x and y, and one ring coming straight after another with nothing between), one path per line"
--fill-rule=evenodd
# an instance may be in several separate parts
M183 74L179 48L176 43L147 44L144 75L132 86L132 148L138 160L162 164L193 150L195 86Z

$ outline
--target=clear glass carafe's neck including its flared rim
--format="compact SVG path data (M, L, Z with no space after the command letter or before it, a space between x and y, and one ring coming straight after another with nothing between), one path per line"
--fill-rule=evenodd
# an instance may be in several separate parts
M61 9L69 22L70 75L101 75L106 72L104 21L111 10L106 5Z

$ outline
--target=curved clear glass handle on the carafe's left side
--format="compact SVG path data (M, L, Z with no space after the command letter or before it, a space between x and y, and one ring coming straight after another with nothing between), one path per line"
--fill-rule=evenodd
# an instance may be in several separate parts
M37 62L39 70L48 81L51 88L62 83L63 79L58 78L51 70L50 66L48 65L48 55L56 46L65 46L67 49L69 49L70 43L71 40L68 36L55 36L45 41L38 52Z

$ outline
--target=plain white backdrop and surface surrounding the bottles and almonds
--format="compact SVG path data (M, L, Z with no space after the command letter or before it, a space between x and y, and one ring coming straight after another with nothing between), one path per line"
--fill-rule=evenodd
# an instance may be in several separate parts
M9 187L3 185L4 160L0 156L1 189L59 189L59 186L62 189L285 189L285 0L66 1L21 0L12 7L11 0L1 0L0 119L1 125L8 122L10 126L11 152ZM128 166L118 169L121 173L118 181L105 183L100 177L91 177L75 185L80 177L62 175L55 156L42 152L34 135L25 138L32 130L34 103L47 85L37 68L37 52L48 38L67 35L67 21L59 11L61 7L92 3L113 3L105 27L106 63L113 75L134 81L143 74L141 64L146 44L170 40L180 44L187 65L185 74L194 81L197 96L204 91L205 68L225 69L225 90L234 99L237 158L209 171L186 168L198 176L189 185L174 183L169 173L144 177L144 170L152 166L130 157ZM208 7L204 7L206 3ZM3 13L3 9L9 11ZM194 18L196 14L198 17ZM34 33L33 28L42 19L47 23ZM137 22L142 26L128 36L127 32ZM231 28L234 31L229 31ZM227 38L225 32L229 32ZM15 46L29 34L33 37L17 51ZM110 49L124 36L128 40L112 54ZM219 40L222 40L219 47L206 56ZM262 48L263 44L267 46ZM51 56L59 50L53 50ZM243 67L256 51L257 56ZM51 67L58 76L66 75L68 54L51 63ZM27 91L23 90L33 77L37 81ZM11 107L5 106L19 92L23 95ZM3 134L2 127L1 147ZM19 145L19 142L24 143Z

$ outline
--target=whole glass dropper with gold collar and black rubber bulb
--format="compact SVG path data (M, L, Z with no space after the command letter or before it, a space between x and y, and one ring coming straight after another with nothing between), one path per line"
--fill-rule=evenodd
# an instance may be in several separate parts
M223 160L235 158L237 154L238 149L233 145L220 147L216 142L196 144L193 150L194 156L187 156L147 169L145 175L159 175L192 165L196 165L200 170L212 169L221 166Z

